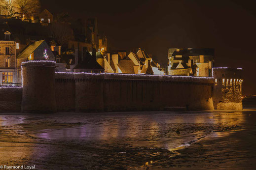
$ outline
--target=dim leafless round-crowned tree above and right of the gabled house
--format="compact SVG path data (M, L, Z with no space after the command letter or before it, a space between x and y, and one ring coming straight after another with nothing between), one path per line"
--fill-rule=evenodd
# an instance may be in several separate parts
M73 30L68 24L53 23L51 25L51 32L52 36L60 46L67 44L69 40L73 40Z

